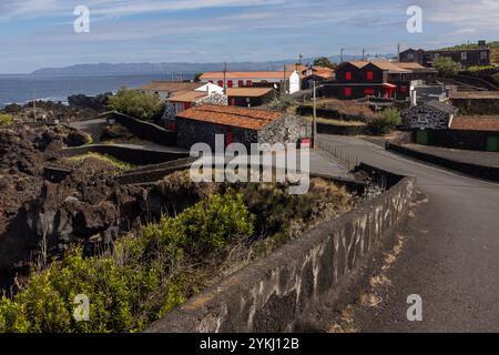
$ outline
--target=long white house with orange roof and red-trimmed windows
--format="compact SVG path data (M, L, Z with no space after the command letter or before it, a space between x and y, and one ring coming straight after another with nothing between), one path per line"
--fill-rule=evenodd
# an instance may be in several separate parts
M302 84L296 71L216 71L204 73L200 80L227 89L248 87L278 89L285 83L287 93L299 91Z

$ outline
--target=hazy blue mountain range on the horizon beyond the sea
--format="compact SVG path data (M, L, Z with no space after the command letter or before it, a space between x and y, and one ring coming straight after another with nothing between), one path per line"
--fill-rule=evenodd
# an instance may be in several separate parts
M383 57L391 58L393 54L384 54ZM339 55L329 58L333 62L339 62ZM344 60L359 59L359 57L345 55ZM313 58L303 59L302 62L307 64L314 61ZM283 70L284 64L295 63L296 59L266 61L266 62L230 62L227 70L230 71L255 71L255 70ZM165 74L180 73L194 74L206 71L224 70L225 63L99 63L99 64L78 64L67 68L43 68L32 72L33 75L126 75L126 74Z

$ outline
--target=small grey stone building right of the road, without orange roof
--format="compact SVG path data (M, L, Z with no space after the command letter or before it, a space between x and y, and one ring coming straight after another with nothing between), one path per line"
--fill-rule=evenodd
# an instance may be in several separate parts
M447 130L457 112L457 108L434 100L406 109L400 116L407 129Z

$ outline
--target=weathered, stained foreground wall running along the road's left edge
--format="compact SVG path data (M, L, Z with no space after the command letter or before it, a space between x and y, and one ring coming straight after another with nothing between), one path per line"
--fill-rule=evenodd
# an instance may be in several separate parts
M149 333L288 332L380 247L406 215L415 179L326 222L155 322Z

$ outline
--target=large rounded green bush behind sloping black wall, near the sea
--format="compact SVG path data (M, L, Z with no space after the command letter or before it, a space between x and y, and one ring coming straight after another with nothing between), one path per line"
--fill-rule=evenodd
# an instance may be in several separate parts
M110 110L151 122L160 120L165 108L165 103L159 95L126 88L120 89L115 95L109 98Z

